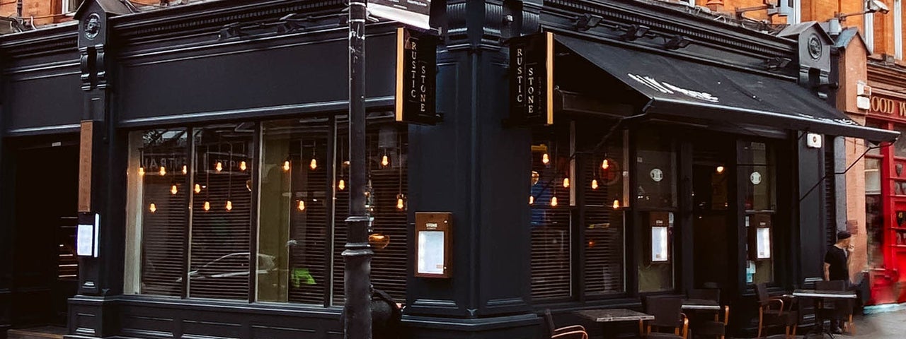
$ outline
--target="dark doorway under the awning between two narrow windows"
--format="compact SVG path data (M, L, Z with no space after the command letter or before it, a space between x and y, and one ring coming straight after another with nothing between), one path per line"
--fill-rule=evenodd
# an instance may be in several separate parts
M692 238L695 246L693 260L693 286L733 286L732 270L735 260L730 253L736 250L736 222L731 213L736 202L730 194L734 184L729 160L733 149L725 145L732 142L702 142L693 147L692 154Z

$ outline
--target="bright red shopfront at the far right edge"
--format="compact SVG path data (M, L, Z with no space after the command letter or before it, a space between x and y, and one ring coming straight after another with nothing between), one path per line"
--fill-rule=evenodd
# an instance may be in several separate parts
M888 95L891 94L891 95ZM906 132L906 98L874 93L866 125ZM872 297L869 304L906 302L906 137L870 144L865 155L865 222Z

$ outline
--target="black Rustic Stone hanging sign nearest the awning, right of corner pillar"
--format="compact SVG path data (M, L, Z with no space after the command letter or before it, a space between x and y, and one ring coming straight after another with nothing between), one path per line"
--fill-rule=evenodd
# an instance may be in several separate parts
M554 124L554 33L511 40L509 73L509 123Z

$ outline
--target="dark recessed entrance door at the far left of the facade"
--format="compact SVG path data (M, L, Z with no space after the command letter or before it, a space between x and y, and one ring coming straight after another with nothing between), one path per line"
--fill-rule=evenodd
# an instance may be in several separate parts
M79 148L20 146L14 160L13 325L65 325L75 295Z

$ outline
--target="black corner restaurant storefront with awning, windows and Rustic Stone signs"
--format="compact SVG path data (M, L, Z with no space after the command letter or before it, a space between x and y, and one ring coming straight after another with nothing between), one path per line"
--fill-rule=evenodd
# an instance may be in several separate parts
M76 92L72 121L27 130L80 136L72 212L97 242L69 337L342 336L344 5L225 3L89 1L81 24L0 44L20 39ZM752 284L821 277L827 140L897 136L819 97L832 42L815 24L771 35L670 4L432 4L430 124L394 110L399 24L368 26L371 281L405 306L402 337L536 338L547 308L568 324L703 286L745 331ZM50 34L69 54L38 47ZM0 120L4 170L26 112ZM444 275L419 274L419 212L451 216ZM4 317L23 312L5 290L23 291L0 280L0 325L32 325Z

